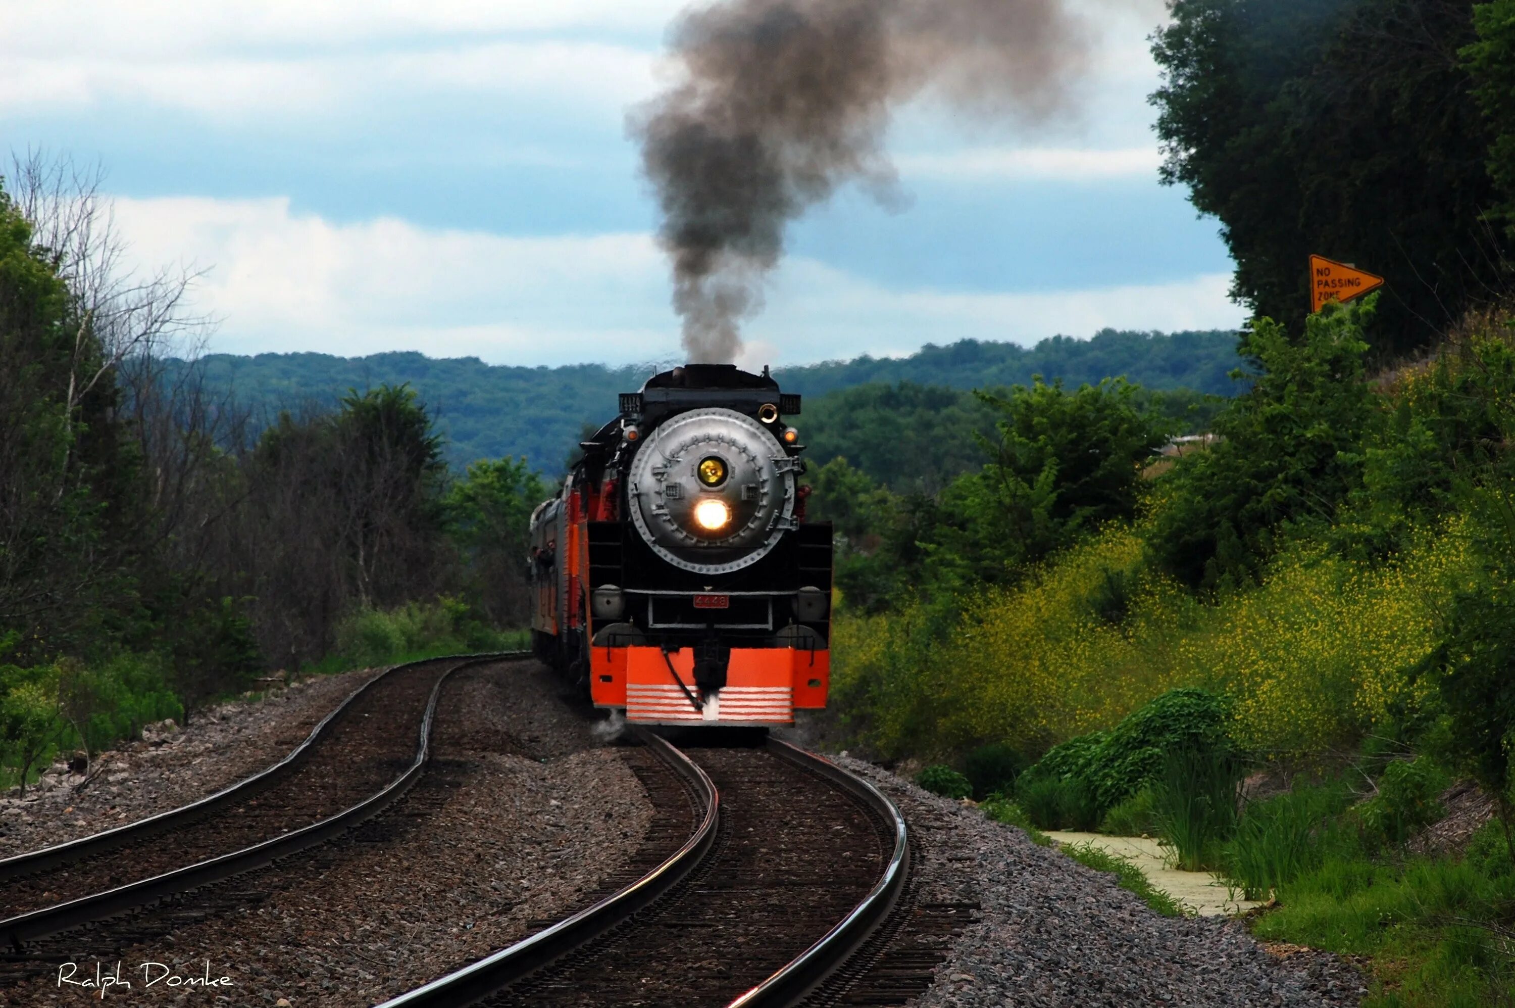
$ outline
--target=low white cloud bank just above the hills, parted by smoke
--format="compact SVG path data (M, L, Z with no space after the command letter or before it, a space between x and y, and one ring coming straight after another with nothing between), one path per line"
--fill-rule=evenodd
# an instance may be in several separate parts
M421 350L494 364L677 356L667 264L648 235L511 238L380 218L335 224L288 200L120 200L147 265L214 267L198 308L235 353ZM815 261L789 261L751 320L744 362L903 355L962 338L1033 343L1104 326L1209 329L1242 312L1227 274L1048 293L886 290Z

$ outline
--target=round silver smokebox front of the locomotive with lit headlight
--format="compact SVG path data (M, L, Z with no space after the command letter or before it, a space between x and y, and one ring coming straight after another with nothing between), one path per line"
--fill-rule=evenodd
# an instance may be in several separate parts
M794 527L795 462L733 409L691 409L661 424L632 461L632 521L654 553L720 574L762 559Z

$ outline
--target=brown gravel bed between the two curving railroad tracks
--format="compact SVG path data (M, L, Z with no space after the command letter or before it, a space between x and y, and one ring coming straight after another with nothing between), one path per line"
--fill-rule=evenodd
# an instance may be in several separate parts
M91 949L132 979L142 963L233 987L112 988L126 1003L371 1005L508 946L579 908L636 850L651 806L598 723L556 696L533 662L454 676L436 715L432 764L395 806L279 872L230 885L230 914L129 949ZM38 979L0 1003L82 1003Z

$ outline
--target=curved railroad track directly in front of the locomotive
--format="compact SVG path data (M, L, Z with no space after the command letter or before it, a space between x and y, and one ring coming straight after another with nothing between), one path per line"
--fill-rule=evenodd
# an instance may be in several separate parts
M895 906L909 835L877 788L780 741L685 752L639 737L694 802L685 843L594 906L382 1008L903 1003L929 985L929 943L891 946L961 920Z

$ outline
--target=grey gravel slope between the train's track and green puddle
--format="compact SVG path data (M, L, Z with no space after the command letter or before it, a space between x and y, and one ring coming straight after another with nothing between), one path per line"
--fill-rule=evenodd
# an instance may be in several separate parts
M1001 1005L1356 1005L1350 966L1324 953L1271 955L1236 922L1168 919L1014 826L936 797L879 767L833 756L904 812L923 897L979 902L921 1008Z

